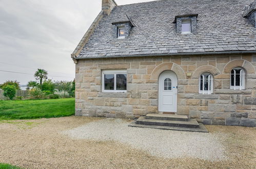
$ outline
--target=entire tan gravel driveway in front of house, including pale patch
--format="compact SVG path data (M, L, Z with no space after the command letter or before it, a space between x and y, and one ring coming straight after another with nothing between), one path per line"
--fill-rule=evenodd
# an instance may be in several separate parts
M128 121L63 117L0 121L0 163L23 168L256 168L256 130L209 133L130 128Z

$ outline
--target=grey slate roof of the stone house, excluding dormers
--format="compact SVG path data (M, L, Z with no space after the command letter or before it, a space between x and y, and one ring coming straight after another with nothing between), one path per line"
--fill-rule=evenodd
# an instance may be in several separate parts
M254 51L256 28L243 17L253 0L163 0L115 7L77 58L193 52ZM129 38L113 37L111 23L131 17ZM175 16L198 14L196 33L176 33Z

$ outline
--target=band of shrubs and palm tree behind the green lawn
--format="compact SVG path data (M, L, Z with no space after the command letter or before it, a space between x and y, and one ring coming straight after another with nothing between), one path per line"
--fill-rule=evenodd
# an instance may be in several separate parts
M38 69L35 74L35 80L29 81L27 85L28 96L16 96L19 82L8 80L2 85L4 99L7 100L26 100L26 99L58 99L74 97L75 81L52 81L48 79L48 73L44 69Z

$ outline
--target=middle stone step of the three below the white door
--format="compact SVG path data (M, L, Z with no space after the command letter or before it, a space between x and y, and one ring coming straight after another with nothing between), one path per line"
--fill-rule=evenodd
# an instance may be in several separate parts
M174 121L146 119L145 116L141 116L139 119L136 120L136 124L175 126L182 128L199 128L199 123L195 119L189 119L188 121Z

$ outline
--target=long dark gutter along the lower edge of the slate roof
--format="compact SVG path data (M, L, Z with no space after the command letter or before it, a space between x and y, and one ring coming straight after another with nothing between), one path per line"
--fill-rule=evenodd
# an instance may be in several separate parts
M142 54L142 55L115 55L115 56L101 56L101 57L76 57L74 59L101 59L101 58L117 58L117 57L149 57L149 56L187 56L187 55L218 55L218 54L256 54L255 51L223 51L223 52L188 52L188 53L168 53L168 54Z

